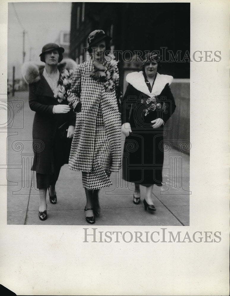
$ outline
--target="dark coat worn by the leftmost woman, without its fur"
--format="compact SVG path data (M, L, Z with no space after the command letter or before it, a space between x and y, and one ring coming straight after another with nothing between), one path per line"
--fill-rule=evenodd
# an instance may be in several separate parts
M31 170L40 174L52 174L56 167L68 163L72 139L61 139L58 127L65 122L75 126L76 115L72 110L53 114L53 106L58 104L40 72L40 80L29 85L29 106L36 112L33 123L34 164ZM68 105L68 101L63 100L61 104Z

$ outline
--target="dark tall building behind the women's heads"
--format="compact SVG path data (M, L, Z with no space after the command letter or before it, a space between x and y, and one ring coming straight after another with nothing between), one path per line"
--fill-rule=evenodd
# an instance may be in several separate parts
M96 29L112 37L111 45L119 55L121 87L124 78L124 57L128 51L159 50L165 60L163 74L189 78L190 65L172 61L180 51L183 60L190 50L190 3L100 3L73 2L70 31L70 57L76 62L86 58L87 37ZM85 48L85 50L83 49ZM171 60L171 61L170 61Z

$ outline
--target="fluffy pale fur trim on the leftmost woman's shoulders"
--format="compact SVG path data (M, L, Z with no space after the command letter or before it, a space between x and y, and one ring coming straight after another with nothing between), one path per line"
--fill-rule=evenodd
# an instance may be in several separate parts
M45 63L36 64L35 62L26 62L21 67L23 79L27 84L35 83L40 80L40 72L44 69ZM77 63L73 59L65 58L58 64L58 70L76 70Z

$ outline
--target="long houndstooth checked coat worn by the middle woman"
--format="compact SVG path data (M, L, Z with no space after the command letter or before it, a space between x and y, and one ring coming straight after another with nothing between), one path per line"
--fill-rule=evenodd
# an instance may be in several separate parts
M91 172L96 139L96 123L99 111L102 112L105 134L111 149L111 171L121 167L120 113L115 93L115 86L108 91L104 82L95 81L89 73L93 70L93 60L89 59L78 65L71 89L68 91L69 105L75 110L81 104L81 111L76 115L76 125L69 156L71 170ZM116 67L116 71L118 69Z

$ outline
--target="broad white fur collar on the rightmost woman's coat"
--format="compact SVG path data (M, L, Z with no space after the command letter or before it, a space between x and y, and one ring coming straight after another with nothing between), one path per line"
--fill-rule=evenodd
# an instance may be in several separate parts
M149 93L149 89L145 83L145 78L142 71L132 72L126 75L126 81L128 83L130 83L138 91L141 91L149 96L158 96L161 91L163 91L167 83L169 83L169 85L172 83L172 80L173 77L170 75L156 73L156 79L153 84L153 89L151 93Z

